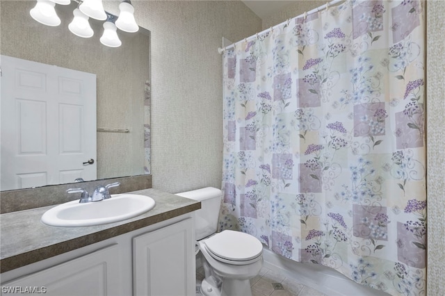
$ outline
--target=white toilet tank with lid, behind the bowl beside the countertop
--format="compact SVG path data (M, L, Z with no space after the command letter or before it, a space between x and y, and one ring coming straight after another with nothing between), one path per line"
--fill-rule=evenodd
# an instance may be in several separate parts
M201 208L194 213L196 240L201 240L218 228L220 203L223 192L217 188L207 187L192 191L177 193L181 197L195 199L201 202Z

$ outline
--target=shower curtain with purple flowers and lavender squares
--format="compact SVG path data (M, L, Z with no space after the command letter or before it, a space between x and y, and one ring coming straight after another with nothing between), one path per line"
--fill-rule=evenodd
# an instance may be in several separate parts
M426 294L423 3L346 1L223 58L220 230Z

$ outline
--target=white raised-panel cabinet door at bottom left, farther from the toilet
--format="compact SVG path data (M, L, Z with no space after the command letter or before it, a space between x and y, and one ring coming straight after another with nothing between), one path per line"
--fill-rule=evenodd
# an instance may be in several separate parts
M119 245L3 283L1 295L122 296Z

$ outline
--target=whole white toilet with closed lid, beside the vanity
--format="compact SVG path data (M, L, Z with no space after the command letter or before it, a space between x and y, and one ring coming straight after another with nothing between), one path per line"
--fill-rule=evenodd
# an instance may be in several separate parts
M218 229L222 192L207 187L177 193L201 202L194 212L196 254L201 256L205 278L201 292L206 296L251 296L250 279L263 265L263 245L248 233Z

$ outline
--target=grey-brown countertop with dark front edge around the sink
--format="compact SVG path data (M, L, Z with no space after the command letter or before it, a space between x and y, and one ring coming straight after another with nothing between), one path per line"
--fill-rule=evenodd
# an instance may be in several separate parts
M70 252L201 208L201 203L193 199L155 189L129 193L152 197L156 205L137 217L91 227L51 227L43 224L40 221L43 213L54 206L0 215L0 272Z

